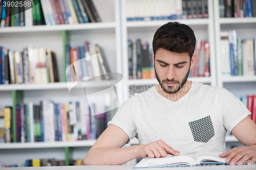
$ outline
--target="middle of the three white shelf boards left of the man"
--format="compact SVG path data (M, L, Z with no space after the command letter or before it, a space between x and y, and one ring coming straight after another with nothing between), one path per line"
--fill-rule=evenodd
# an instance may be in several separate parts
M76 82L70 82L70 84L75 86ZM102 81L88 81L85 83L84 87L105 87L106 80ZM8 84L0 85L0 91L7 90L45 90L45 89L68 89L67 82L57 82L57 83L47 83L47 84Z

